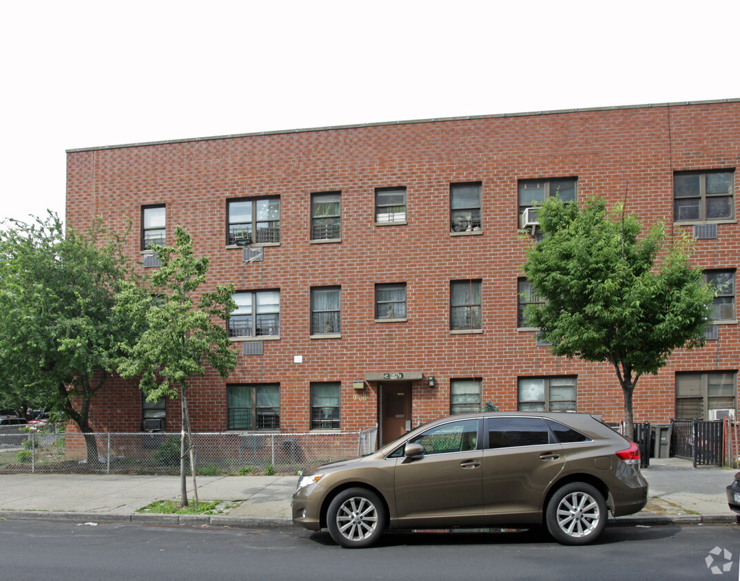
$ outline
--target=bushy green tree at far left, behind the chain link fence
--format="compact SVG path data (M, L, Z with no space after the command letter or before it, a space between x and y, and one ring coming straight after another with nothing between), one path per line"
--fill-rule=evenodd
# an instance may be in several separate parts
M130 275L123 247L99 220L87 234L65 234L51 212L0 231L0 390L6 401L64 412L85 435L92 464L90 404L132 335L112 309Z

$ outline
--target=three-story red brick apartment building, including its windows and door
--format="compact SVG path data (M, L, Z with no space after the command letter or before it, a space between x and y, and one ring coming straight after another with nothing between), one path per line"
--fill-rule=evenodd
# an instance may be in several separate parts
M636 421L736 410L740 100L422 120L67 152L67 222L174 243L232 282L238 367L192 384L194 429L394 433L491 402L622 418L609 364L557 359L518 313L526 208L559 191L627 200L698 237L721 285L707 346L640 379ZM531 229L531 228L530 228ZM523 295L521 293L524 293ZM148 407L148 406L146 406ZM135 382L95 399L98 430L179 429Z

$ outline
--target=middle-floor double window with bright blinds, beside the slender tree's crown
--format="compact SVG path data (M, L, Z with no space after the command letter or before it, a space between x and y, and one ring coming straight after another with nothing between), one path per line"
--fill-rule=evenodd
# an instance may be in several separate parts
M237 305L229 319L229 337L280 336L280 290L232 294Z

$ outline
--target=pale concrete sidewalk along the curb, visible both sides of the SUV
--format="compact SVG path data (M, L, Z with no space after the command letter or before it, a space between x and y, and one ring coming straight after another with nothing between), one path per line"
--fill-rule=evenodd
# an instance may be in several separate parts
M650 483L642 512L619 517L623 523L734 523L724 488L734 470L693 468L679 458L651 458L642 474ZM155 500L180 493L178 476L141 475L0 475L0 519L129 521L218 524L221 526L292 526L290 500L297 476L199 476L200 500L232 505L226 514L138 513ZM192 479L188 478L192 500Z

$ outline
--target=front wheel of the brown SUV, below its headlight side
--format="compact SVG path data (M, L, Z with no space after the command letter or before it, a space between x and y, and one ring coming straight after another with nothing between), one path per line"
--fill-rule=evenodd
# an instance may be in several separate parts
M369 547L377 543L386 528L386 509L374 492L363 488L346 489L329 503L326 524L338 545Z

